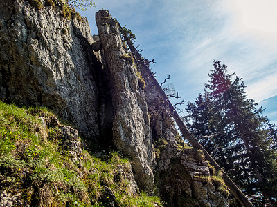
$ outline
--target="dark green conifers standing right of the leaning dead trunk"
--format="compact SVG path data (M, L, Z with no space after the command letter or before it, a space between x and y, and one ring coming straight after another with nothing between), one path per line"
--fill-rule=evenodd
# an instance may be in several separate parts
M275 125L262 116L262 108L256 109L253 99L247 99L242 79L229 75L220 61L213 66L204 95L188 102L188 127L244 193L273 203L277 199Z

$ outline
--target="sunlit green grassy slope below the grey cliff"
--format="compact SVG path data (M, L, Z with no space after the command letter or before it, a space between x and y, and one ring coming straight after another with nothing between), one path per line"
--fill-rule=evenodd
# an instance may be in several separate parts
M118 206L162 206L158 197L130 195L128 181L115 179L118 166L129 170L127 159L117 152L100 159L86 150L72 159L60 146L59 128L41 117L47 123L55 115L0 101L0 191L21 193L32 206L109 206L107 186Z

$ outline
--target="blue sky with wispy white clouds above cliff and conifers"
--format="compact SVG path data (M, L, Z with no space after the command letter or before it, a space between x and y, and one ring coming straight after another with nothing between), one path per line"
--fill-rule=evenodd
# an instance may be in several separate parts
M96 5L82 12L92 34L97 34L95 12L109 10L136 34L143 57L157 62L152 70L158 81L172 75L170 83L182 99L195 101L213 60L221 60L277 124L276 0L100 0Z

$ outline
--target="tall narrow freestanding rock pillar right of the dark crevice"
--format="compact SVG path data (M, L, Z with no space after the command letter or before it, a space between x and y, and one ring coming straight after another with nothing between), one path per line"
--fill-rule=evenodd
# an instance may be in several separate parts
M148 106L139 87L134 60L123 48L119 28L107 10L96 13L96 24L107 63L114 108L113 139L118 150L132 157L134 176L140 188L153 190L152 137Z

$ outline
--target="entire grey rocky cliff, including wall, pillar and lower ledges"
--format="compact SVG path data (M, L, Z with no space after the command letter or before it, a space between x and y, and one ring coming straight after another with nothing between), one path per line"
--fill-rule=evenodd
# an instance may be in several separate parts
M0 98L51 108L85 139L123 152L139 188L156 189L166 206L228 206L217 172L180 145L166 104L109 12L96 13L92 37L86 18L65 19L41 2L38 9L0 0Z

